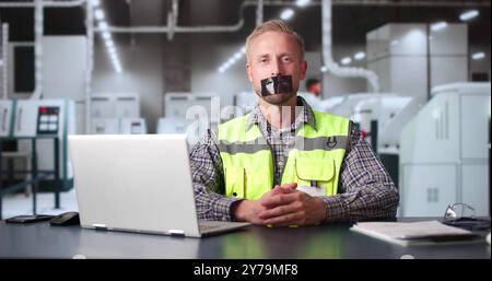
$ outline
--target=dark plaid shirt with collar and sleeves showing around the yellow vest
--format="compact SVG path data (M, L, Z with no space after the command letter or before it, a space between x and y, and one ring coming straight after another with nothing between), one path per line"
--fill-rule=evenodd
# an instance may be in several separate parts
M272 128L258 106L250 113L246 126L258 125L271 145L276 159L274 184L280 184L282 169L289 155L289 143L297 130L307 124L316 128L311 106L297 97L295 121L288 128ZM244 200L225 195L224 172L216 132L209 130L190 152L190 165L198 218L213 221L234 221L233 202ZM326 203L326 222L362 221L394 218L399 195L389 174L375 155L371 144L361 138L360 129L351 121L349 144L341 166L338 194L320 197ZM273 187L272 187L273 188Z

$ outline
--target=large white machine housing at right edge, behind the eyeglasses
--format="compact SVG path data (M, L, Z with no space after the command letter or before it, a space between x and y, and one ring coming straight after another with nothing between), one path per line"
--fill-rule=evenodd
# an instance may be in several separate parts
M445 84L432 96L400 137L399 214L441 216L464 202L490 215L491 86Z

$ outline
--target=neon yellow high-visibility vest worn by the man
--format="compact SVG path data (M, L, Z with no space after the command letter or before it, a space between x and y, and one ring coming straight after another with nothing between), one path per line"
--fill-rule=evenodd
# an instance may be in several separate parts
M350 120L314 112L316 129L304 124L295 137L283 168L281 184L326 188L337 194L345 155ZM219 126L219 151L227 197L256 200L273 188L274 153L258 125L246 130L249 115Z

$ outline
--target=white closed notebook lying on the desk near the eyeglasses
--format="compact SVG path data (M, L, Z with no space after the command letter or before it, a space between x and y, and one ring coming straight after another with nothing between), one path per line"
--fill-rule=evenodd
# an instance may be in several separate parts
M470 231L448 226L438 221L360 222L354 224L351 231L402 246L470 243L483 239Z

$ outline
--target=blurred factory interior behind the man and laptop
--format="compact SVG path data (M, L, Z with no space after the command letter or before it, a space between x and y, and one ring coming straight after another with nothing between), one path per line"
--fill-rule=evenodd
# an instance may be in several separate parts
M300 95L360 125L398 215L490 215L490 1L1 0L2 218L77 210L68 134L191 145L250 110L244 43L272 19L305 40Z

